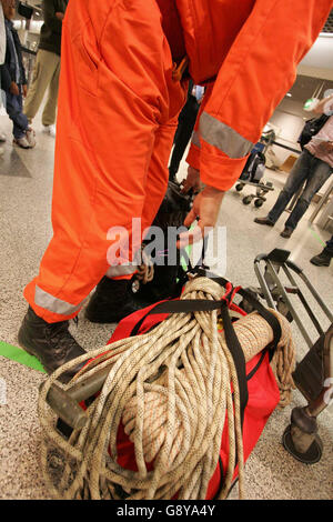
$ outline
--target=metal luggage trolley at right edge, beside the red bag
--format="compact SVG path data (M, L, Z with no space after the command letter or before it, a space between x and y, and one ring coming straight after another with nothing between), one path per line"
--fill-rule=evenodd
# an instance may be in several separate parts
M293 380L296 388L306 399L307 405L294 408L291 424L282 438L284 448L299 461L306 464L319 462L322 456L323 443L317 434L317 415L332 402L333 398L333 314L323 302L303 270L289 260L290 252L274 249L269 254L260 254L254 260L254 271L260 289L249 289L256 297L264 299L269 307L278 310L290 322L295 321L307 347L309 352L296 364ZM264 271L262 270L264 265ZM280 274L285 274L289 283L284 284ZM310 290L312 297L330 320L327 331L321 327L317 318L297 285L296 275ZM313 343L306 328L297 315L290 295L297 297L311 319L319 338ZM251 304L243 302L242 307L251 311Z

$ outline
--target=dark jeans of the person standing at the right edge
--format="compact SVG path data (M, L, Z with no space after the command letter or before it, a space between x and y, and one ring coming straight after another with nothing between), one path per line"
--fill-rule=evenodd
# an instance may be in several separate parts
M289 174L286 183L280 192L276 203L269 212L269 219L275 223L293 195L303 185L303 183L306 182L303 192L285 222L285 227L294 230L300 219L306 212L314 194L330 178L332 170L333 169L329 163L319 160L304 149Z

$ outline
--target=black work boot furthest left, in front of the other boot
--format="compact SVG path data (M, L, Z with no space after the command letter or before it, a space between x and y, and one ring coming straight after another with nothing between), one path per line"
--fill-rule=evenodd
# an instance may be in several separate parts
M29 307L19 331L19 344L30 355L34 355L51 374L67 362L85 353L68 331L68 327L69 321L48 323ZM83 364L67 371L59 380L69 382Z

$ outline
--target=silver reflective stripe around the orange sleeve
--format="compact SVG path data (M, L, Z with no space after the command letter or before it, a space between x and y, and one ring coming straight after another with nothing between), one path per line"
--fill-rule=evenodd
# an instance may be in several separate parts
M200 135L213 147L224 152L229 158L244 158L252 150L254 143L239 134L234 129L216 120L208 112L200 118Z

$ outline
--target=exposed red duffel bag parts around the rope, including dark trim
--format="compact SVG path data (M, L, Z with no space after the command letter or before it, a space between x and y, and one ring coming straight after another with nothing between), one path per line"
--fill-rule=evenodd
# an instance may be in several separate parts
M240 293L243 298L246 297L254 307L258 309L258 312L263 314L265 320L270 322L273 332L274 332L274 343L271 347L266 347L261 353L258 353L251 361L245 364L245 381L243 385L248 390L248 400L246 405L244 405L243 411L243 422L242 422L242 433L243 433L243 451L244 451L244 461L248 460L252 450L254 449L261 433L280 401L280 392L276 384L275 377L273 374L272 368L270 365L270 360L274 347L279 342L281 334L279 322L266 309L264 309L259 301L253 299L245 290L232 288L231 283L222 278L215 279L216 282L220 282L226 287L226 293L224 300L228 303L228 309L230 311L236 312L240 315L245 317L246 313L236 304L232 302L235 293ZM172 301L172 303L180 301ZM175 305L176 307L176 305ZM185 305L184 305L185 307ZM109 344L121 339L129 338L131 335L140 335L147 333L153 329L157 324L168 318L169 313L163 313L163 308L165 310L171 310L171 301L163 301L158 304L153 304L143 310L140 310L125 319L123 319L117 327L113 332ZM176 308L173 310L176 311ZM184 308L182 311L185 311ZM226 314L224 315L225 323ZM231 324L231 323L230 323ZM239 374L240 378L240 374ZM120 425L118 438L118 463L128 470L138 471L135 464L134 455L134 444L130 441L129 436L125 434L123 426ZM216 499L220 491L223 488L224 482L224 470L228 468L229 461L229 434L228 434L228 419L225 419L225 424L222 434L219 465L215 469L213 476L209 483L206 491L206 499ZM148 470L153 469L153 463L147 464ZM234 470L233 484L238 479L238 465Z

